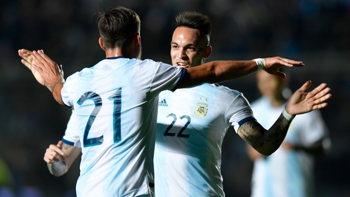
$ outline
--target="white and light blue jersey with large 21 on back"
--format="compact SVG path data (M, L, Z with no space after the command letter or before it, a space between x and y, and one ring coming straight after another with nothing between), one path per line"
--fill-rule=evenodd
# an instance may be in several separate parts
M158 94L176 89L184 73L161 62L113 57L67 78L61 98L75 110L83 153L78 197L149 194Z

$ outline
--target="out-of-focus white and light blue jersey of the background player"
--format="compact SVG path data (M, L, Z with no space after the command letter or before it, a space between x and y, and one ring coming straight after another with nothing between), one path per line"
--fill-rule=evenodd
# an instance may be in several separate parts
M266 98L251 104L256 120L270 128L281 115L285 105L274 107ZM325 139L327 128L318 110L297 115L284 142L310 147ZM251 197L312 197L313 158L304 151L277 149L267 157L254 161Z

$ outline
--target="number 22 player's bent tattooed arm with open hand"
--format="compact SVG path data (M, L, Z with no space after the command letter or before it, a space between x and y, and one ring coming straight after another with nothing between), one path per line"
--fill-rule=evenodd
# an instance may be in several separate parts
M259 153L272 154L282 144L295 115L327 106L324 101L331 98L331 95L328 94L330 89L326 88L326 84L321 84L313 91L304 93L310 85L311 81L307 81L292 95L285 111L269 130L264 129L256 120L250 120L240 126L238 135Z

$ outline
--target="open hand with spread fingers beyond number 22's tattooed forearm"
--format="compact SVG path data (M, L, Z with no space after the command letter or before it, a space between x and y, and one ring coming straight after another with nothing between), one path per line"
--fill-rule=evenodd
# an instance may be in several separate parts
M289 114L307 113L327 106L327 103L324 101L331 98L331 94L328 94L331 89L326 88L327 84L323 83L311 92L304 93L310 86L311 81L307 81L292 95L286 105L286 110Z

